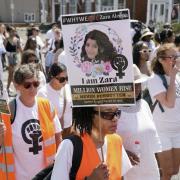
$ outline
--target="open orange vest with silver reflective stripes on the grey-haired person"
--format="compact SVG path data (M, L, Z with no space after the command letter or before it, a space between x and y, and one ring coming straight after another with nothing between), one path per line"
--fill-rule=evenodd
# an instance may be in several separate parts
M44 145L45 165L47 166L53 163L56 154L55 127L53 123L55 111L51 109L48 100L39 97L37 100ZM0 180L15 180L10 115L2 114L2 119L7 130L4 137L4 145L0 150Z

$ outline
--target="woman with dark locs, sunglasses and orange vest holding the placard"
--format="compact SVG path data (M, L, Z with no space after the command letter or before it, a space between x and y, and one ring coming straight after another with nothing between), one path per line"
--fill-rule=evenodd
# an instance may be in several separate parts
M74 127L83 144L75 179L120 180L131 168L121 138L115 134L120 114L117 106L73 108ZM56 155L52 180L69 179L72 156L72 142L65 139Z

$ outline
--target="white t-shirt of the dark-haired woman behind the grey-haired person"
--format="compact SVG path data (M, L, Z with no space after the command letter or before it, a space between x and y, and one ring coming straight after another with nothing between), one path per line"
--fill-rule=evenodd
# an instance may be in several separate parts
M49 84L46 84L38 91L38 96L47 98L56 108L58 117L61 118L64 109L64 98L66 92L66 109L64 113L64 128L72 125L72 98L70 86L65 85L61 90L54 90Z

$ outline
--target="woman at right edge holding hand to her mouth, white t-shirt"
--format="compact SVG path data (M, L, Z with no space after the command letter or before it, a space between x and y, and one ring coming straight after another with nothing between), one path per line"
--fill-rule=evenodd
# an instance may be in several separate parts
M166 43L157 50L152 62L154 75L148 83L153 101L158 100L153 111L154 122L161 140L158 153L163 180L170 180L180 165L180 78L177 72L177 49Z

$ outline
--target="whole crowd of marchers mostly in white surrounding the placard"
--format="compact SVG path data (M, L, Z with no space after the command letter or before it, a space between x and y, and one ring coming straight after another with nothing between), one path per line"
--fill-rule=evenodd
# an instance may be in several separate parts
M156 33L143 29L132 44L132 106L72 107L61 29L53 24L45 41L39 32L31 25L23 45L15 27L0 24L0 99L10 110L0 114L0 179L38 180L53 163L52 180L171 180L177 175L180 36L172 26ZM103 32L85 36L82 64L101 63L102 57L107 63L116 55Z

